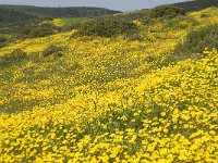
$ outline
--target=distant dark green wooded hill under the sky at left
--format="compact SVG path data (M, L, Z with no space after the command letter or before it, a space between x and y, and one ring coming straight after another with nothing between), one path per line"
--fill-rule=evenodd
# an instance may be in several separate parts
M28 5L0 5L0 22L28 21L34 18L53 17L94 17L119 13L101 8L39 8Z

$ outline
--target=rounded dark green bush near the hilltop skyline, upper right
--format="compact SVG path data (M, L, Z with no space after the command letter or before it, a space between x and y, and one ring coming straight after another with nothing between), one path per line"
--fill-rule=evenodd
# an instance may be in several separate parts
M173 18L178 15L185 15L185 10L174 5L160 5L148 11L148 18Z

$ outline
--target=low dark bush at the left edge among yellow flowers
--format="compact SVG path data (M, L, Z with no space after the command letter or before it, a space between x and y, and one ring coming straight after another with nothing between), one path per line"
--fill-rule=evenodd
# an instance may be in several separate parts
M26 58L26 52L24 52L22 49L15 49L13 52L0 57L0 65L3 66L11 63L16 63Z

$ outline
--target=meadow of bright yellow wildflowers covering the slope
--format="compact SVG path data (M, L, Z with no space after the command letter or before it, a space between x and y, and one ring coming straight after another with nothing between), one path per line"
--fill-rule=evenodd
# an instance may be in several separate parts
M197 25L154 24L143 41L72 30L0 49L27 53L0 68L0 162L216 163L218 49L168 59L217 15L210 8L189 13ZM63 55L44 57L50 45Z

